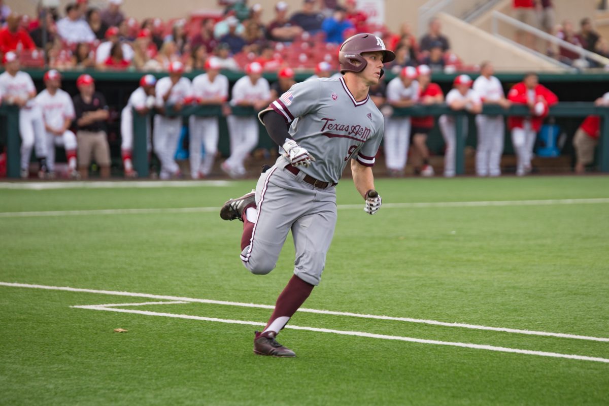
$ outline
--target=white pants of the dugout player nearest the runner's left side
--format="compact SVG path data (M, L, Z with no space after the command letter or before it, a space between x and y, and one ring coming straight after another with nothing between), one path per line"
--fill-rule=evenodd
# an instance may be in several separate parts
M230 156L226 164L239 174L245 173L244 161L258 145L258 121L255 117L228 116Z

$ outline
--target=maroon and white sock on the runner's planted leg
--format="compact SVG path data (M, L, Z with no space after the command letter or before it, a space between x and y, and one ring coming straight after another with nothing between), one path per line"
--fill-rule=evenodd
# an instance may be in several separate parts
M283 292L281 292L277 298L275 310L273 310L269 323L267 323L262 332L280 332L296 310L305 303L306 298L311 295L311 291L314 287L315 285L311 285L298 278L298 276L293 275L292 279L287 282L287 286L283 289Z

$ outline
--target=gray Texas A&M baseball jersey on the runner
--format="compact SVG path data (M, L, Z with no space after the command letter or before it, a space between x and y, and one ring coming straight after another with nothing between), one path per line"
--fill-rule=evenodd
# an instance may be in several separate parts
M296 83L260 117L271 109L290 123L290 136L314 156L311 166L300 169L307 175L338 183L349 158L375 164L383 116L370 96L355 100L342 77Z

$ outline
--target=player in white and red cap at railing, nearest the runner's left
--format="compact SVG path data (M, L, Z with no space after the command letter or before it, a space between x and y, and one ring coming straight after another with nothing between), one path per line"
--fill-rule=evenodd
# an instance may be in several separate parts
M245 68L246 76L233 86L233 106L253 107L256 113L270 102L269 82L262 77L262 66L252 62ZM222 170L232 178L245 175L244 161L248 153L258 145L258 121L255 116L227 117L231 154L222 163Z

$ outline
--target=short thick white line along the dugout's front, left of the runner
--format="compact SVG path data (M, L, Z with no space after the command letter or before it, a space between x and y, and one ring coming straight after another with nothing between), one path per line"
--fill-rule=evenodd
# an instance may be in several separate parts
M65 181L0 182L0 189L48 191L56 189L142 189L152 187L230 186L226 180L141 180L141 181Z

